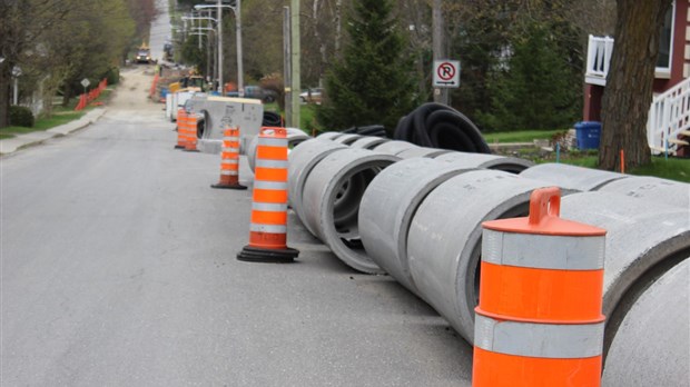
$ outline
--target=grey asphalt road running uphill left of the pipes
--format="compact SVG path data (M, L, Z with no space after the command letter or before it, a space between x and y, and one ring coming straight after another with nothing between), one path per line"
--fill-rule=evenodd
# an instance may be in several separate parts
M470 385L443 318L293 214L297 262L236 260L252 191L210 189L219 157L172 149L150 77L124 78L96 125L0 159L0 385Z

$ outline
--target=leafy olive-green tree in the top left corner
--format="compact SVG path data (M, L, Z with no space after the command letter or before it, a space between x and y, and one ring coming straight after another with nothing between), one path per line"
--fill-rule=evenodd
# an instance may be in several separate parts
M0 128L9 125L14 66L24 89L43 89L50 99L62 86L69 98L81 90L79 80L100 80L118 64L134 28L125 0L0 1Z

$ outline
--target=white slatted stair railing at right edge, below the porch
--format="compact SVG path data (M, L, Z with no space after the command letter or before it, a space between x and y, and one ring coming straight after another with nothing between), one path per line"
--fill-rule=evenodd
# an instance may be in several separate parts
M647 140L653 153L674 153L678 135L690 130L690 78L655 96L647 120Z

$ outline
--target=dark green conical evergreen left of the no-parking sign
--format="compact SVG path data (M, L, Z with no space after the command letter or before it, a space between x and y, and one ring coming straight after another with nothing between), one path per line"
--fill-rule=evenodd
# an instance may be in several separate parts
M326 98L317 119L327 129L382 123L388 131L415 105L412 62L391 0L354 0L348 40L326 76Z

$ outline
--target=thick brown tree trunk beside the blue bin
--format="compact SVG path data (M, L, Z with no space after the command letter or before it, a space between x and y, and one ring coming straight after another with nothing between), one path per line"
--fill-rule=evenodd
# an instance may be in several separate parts
M618 0L615 44L602 100L599 168L620 171L651 162L647 116L659 37L669 0Z

